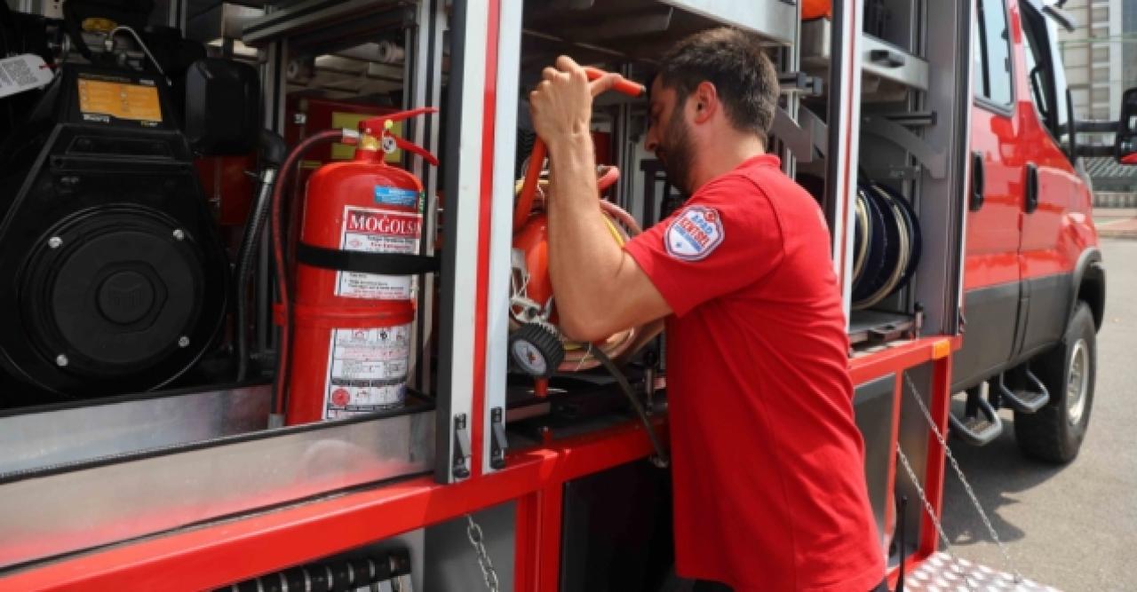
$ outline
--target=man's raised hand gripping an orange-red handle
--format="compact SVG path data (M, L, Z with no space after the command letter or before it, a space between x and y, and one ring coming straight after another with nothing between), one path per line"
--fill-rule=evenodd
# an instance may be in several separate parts
M529 93L533 128L545 143L553 145L574 135L588 135L592 119L592 97L611 90L623 76L607 73L589 81L579 64L567 56L557 58L555 68L545 68L537 90Z

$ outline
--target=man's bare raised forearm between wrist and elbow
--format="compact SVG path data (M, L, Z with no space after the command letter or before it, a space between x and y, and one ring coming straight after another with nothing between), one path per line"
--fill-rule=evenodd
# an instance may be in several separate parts
M614 305L607 289L623 251L600 215L591 136L578 134L550 145L549 158L549 273L562 328L580 336L589 333L588 322Z

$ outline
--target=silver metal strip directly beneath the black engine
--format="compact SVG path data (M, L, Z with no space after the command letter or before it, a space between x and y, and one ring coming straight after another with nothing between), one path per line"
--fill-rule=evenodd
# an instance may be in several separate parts
M0 417L0 475L264 430L268 385Z

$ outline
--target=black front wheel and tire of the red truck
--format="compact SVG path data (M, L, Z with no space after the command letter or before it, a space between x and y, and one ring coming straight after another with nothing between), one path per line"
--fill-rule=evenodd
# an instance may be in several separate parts
M1089 427L1097 372L1094 315L1086 302L1078 302L1062 343L1030 360L1030 369L1049 391L1051 400L1036 414L1015 411L1019 449L1030 458L1070 462Z

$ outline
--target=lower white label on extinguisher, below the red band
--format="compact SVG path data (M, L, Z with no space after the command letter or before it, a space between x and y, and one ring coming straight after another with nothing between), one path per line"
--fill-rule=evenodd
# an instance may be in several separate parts
M382 411L406 399L410 325L332 330L324 418Z

